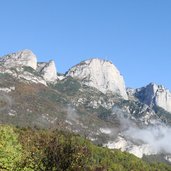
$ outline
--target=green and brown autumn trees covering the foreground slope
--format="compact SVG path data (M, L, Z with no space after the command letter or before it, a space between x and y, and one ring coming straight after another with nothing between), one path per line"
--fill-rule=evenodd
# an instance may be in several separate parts
M169 171L59 130L0 126L0 171Z

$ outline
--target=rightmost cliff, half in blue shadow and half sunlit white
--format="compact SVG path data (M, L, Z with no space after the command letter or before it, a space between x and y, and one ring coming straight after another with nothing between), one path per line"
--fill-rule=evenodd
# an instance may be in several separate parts
M159 106L171 112L171 92L162 85L150 83L146 87L137 89L136 96L149 106Z

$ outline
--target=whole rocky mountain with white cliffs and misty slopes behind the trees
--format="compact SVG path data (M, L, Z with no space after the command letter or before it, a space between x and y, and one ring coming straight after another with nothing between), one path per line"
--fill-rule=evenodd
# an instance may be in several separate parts
M30 50L0 58L0 123L59 128L139 158L171 163L171 92L126 88L110 61L85 60L66 73Z

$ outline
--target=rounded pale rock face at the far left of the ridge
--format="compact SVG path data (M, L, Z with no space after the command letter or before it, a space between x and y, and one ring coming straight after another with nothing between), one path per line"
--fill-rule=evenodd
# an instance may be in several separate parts
M37 68L37 58L35 54L30 50L22 50L16 53L0 58L1 64L6 68L28 66L33 69Z

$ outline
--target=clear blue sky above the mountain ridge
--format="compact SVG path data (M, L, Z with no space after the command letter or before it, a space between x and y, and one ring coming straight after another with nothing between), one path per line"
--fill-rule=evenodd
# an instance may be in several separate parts
M0 56L31 49L59 72L112 61L129 87L171 90L171 0L1 0Z

